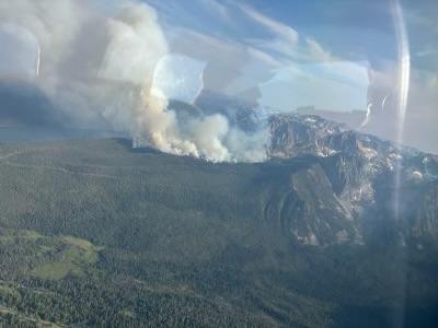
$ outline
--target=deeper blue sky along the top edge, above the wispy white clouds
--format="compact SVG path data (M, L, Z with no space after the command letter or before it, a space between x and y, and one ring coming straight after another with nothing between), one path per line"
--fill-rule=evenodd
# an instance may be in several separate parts
M244 15L241 7L293 28L304 37L316 38L334 55L348 59L379 61L395 55L391 1L385 0L146 0L162 20L200 33L237 40L265 35L266 30ZM402 1L414 48L436 48L438 4L434 0ZM170 20L170 22L169 22Z

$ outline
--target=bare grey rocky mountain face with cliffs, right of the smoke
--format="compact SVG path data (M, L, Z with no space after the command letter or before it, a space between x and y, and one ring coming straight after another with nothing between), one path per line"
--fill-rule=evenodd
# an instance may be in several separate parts
M298 242L438 238L437 156L312 115L275 115L268 125L270 159L319 163L291 177L301 204L288 229Z

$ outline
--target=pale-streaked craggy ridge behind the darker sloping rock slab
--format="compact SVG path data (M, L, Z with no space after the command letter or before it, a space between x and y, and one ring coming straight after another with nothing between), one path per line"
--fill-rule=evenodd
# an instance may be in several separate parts
M437 156L312 115L276 115L269 129L272 157L318 159L339 215L357 233L342 232L342 238L376 238L384 225L400 243L422 247L422 241L437 239ZM394 215L397 204L400 215ZM319 235L318 229L308 230L303 238L316 243Z

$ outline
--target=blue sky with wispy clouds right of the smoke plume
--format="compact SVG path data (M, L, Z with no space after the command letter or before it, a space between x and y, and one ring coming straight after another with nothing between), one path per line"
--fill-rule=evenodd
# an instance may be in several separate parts
M171 50L206 63L205 87L233 95L256 89L262 105L280 110L365 110L368 70L384 70L396 58L390 1L146 2ZM430 70L436 5L405 2L413 62Z

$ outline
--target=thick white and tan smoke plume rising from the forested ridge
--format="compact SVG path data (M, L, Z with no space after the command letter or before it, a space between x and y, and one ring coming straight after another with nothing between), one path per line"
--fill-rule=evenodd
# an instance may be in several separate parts
M168 109L166 97L152 92L155 68L170 50L147 4L125 1L108 10L99 1L3 1L0 24L13 26L18 39L26 34L37 40L25 47L36 58L34 75L16 69L15 78L35 83L76 124L110 125L130 133L136 145L178 155L265 159L263 133L247 136L219 114L183 122Z

